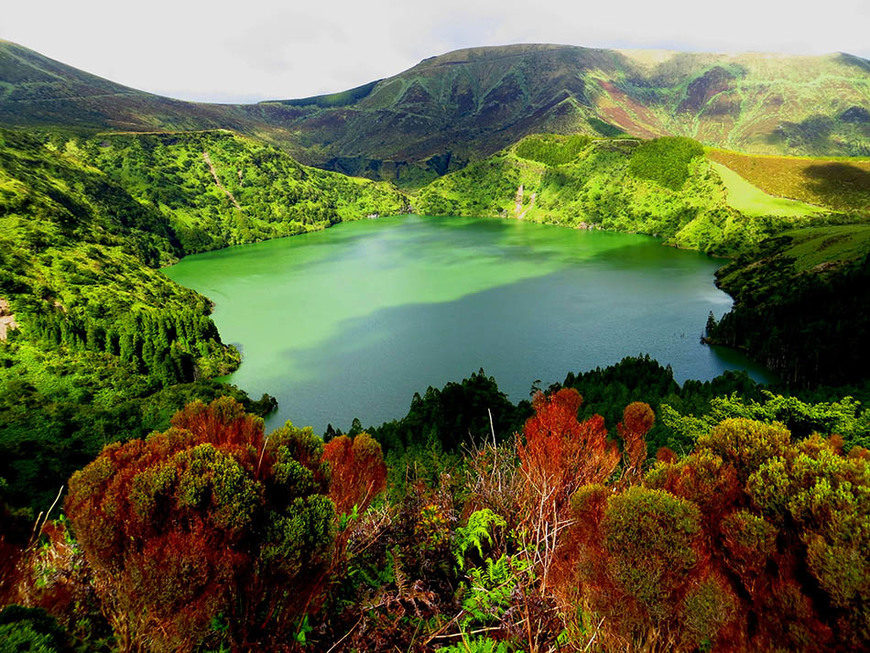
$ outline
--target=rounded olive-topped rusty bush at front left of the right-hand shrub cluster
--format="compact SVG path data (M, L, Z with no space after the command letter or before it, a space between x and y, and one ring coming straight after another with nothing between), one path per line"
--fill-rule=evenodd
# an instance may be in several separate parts
M578 492L574 549L580 600L606 627L606 647L695 650L733 620L738 599L711 568L701 511L669 492L600 485Z

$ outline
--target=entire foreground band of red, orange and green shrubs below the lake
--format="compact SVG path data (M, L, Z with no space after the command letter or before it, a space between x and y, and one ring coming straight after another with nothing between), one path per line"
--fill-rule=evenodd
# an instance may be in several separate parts
M191 403L76 472L30 544L2 515L0 633L46 653L865 649L870 413L702 399L740 375L683 389L703 416L610 403L669 376L569 375L512 432L481 372L415 399L456 421L389 465L359 429L266 435L230 398ZM467 417L483 433L457 449ZM653 454L659 422L681 453Z

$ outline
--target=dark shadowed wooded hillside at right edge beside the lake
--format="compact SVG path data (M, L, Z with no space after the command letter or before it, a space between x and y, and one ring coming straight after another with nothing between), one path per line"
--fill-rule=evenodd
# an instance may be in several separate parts
M866 378L870 226L814 227L765 241L721 268L734 309L708 326L795 385Z

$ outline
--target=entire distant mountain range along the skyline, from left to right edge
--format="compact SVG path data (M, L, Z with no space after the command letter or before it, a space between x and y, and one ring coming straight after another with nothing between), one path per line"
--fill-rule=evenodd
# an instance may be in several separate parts
M135 91L0 42L0 124L226 128L307 164L410 186L543 132L866 156L870 61L512 45L432 57L332 95L215 105Z

